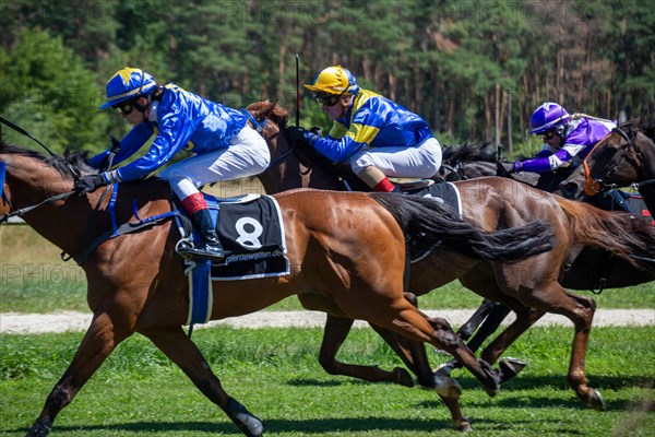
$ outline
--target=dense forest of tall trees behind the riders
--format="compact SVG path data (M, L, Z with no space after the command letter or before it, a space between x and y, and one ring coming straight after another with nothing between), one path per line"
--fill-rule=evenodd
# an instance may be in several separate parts
M269 98L294 114L295 54L301 84L341 63L442 144L536 152L526 131L546 101L655 114L652 0L0 0L0 114L56 152L98 152L129 130L98 110L126 66L235 108ZM300 115L329 127L306 92Z

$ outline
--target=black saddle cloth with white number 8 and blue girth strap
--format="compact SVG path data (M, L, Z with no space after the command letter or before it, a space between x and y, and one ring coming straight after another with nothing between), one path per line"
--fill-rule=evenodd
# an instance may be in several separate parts
M289 274L284 222L277 201L269 196L217 199L205 194L216 231L225 249L221 263L186 260L189 275L187 324L209 321L212 281L239 281ZM196 229L193 229L196 233ZM199 235L194 235L199 238Z

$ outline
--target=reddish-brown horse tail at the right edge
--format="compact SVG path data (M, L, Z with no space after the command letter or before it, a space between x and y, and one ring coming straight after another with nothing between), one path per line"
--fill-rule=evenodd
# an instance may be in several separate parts
M655 226L635 222L627 212L605 211L590 203L556 196L569 218L573 239L608 250L636 268L650 268L655 253Z

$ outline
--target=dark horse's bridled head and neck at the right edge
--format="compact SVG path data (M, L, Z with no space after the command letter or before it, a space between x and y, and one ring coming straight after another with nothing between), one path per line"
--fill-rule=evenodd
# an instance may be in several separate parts
M655 142L639 121L614 129L583 163L584 184L567 179L560 188L576 200L594 198L607 187L636 184L651 214L655 214Z

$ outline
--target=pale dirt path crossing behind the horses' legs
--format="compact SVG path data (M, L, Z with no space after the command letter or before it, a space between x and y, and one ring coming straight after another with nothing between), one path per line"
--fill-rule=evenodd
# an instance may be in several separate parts
M453 328L460 327L473 314L471 309L463 310L426 310L429 316L443 317ZM512 318L509 318L509 323ZM196 328L227 326L233 328L320 328L324 324L325 315L315 311L259 311L247 316L211 321ZM2 333L44 333L84 331L91 322L91 314L57 312L50 315L36 314L0 314L0 332ZM537 326L560 324L572 327L571 321L562 316L546 315ZM366 327L362 321L355 327ZM655 309L604 309L596 311L595 327L606 326L655 326Z

